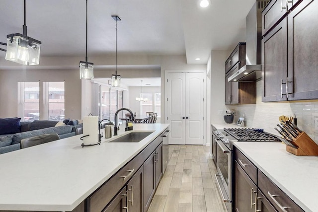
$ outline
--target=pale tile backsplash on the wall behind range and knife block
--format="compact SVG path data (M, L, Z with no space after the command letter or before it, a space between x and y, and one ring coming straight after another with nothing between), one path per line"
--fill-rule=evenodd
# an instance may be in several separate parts
M238 117L245 116L246 127L262 128L268 133L279 135L274 129L279 123L278 117L296 115L298 127L318 143L318 101L262 102L261 81L256 85L256 104L227 106L235 109Z

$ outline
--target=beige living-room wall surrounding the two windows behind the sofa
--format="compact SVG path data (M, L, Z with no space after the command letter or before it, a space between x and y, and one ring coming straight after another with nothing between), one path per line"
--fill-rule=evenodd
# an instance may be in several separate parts
M0 117L17 116L18 81L65 81L65 117L81 118L81 80L75 70L20 70L0 71Z

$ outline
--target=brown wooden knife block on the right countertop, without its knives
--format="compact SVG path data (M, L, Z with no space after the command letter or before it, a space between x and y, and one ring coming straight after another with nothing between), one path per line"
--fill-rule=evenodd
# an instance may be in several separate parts
M286 145L286 150L297 156L318 156L318 144L313 141L305 132L302 132L294 140L298 148Z

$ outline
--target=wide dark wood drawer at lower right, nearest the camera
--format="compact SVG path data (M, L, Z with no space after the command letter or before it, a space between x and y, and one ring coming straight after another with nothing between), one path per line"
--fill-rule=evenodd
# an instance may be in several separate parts
M257 180L259 189L267 197L269 202L276 209L279 209L278 211L283 211L282 208L287 207L288 212L304 212L260 170L258 170Z

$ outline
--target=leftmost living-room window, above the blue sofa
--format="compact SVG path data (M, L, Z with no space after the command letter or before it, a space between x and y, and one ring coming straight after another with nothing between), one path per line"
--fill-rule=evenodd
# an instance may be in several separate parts
M39 82L18 82L18 117L33 122L40 118Z

